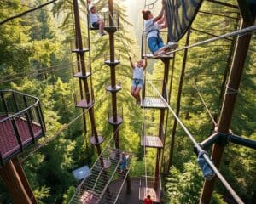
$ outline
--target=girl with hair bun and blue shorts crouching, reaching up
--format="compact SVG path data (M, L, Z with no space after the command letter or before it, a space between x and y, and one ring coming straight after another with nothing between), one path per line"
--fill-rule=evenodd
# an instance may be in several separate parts
M148 47L155 56L165 54L170 49L177 48L177 42L168 42L165 46L160 37L160 29L166 28L166 14L164 1L162 1L162 8L160 14L155 18L150 10L143 10L143 19L145 20L145 31L147 33Z

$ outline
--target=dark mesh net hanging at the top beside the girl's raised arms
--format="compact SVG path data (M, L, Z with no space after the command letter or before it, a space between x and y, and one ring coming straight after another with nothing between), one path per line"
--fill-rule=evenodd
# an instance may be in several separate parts
M168 35L172 42L177 42L195 18L202 0L165 0Z

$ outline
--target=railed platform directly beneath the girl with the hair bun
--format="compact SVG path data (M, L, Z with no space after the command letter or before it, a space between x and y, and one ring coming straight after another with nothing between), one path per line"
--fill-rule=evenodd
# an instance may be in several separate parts
M167 31L161 31L161 37L163 41L167 39ZM145 57L147 57L147 59L173 59L173 54L161 54L158 57L154 56L148 48L147 33L145 31L143 31L142 35L141 55L142 59L144 59Z

